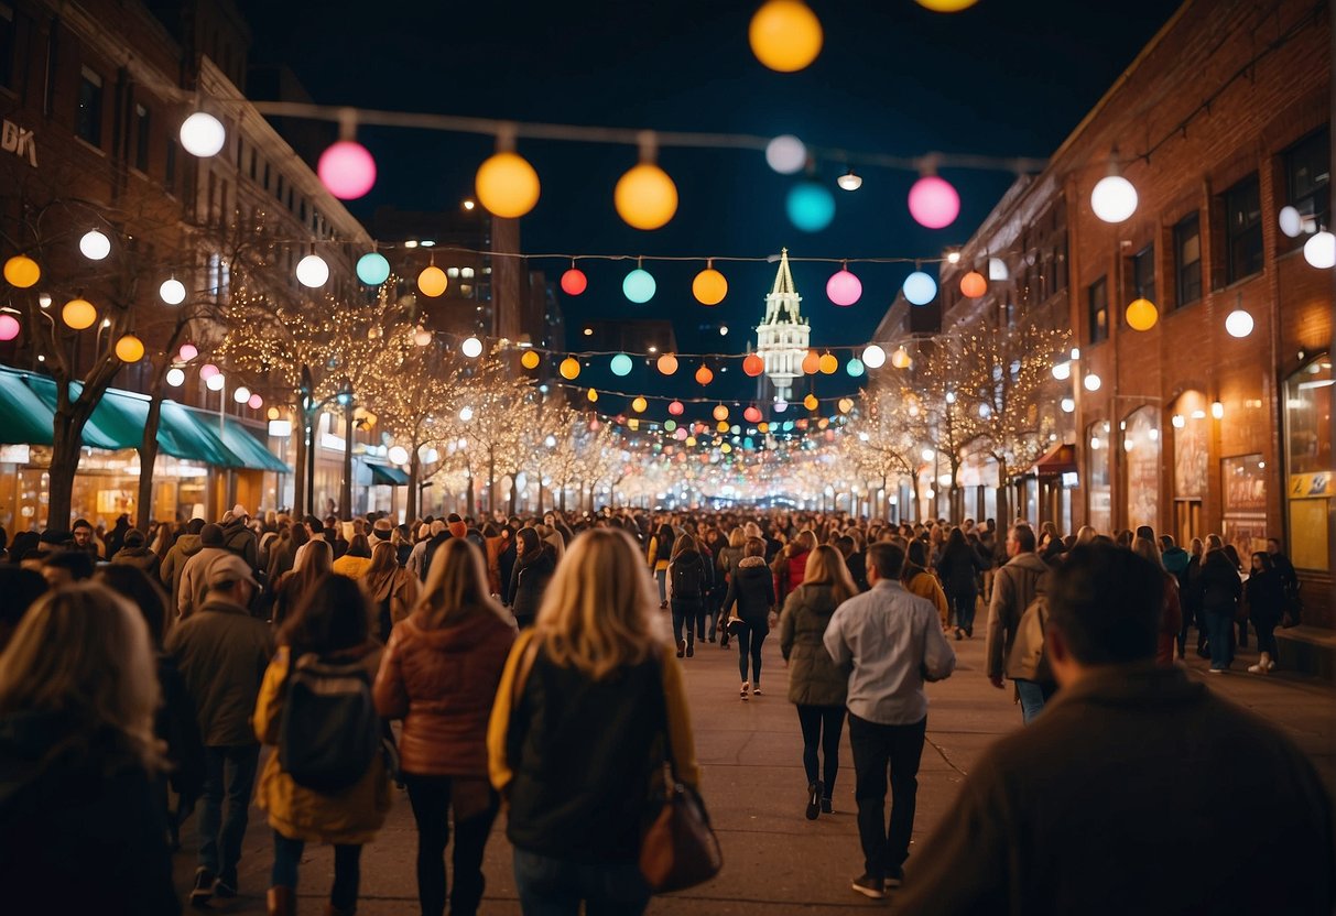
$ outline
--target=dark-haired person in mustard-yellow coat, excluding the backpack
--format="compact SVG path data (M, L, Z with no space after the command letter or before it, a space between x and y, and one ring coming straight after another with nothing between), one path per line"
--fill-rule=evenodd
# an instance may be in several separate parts
M283 689L291 660L315 654L330 664L358 664L374 680L381 645L369 633L370 612L357 582L327 576L311 588L278 634L278 654L265 672L253 725L261 741L277 745ZM375 839L390 809L389 770L378 753L361 780L326 794L298 785L271 753L255 789L255 804L269 813L274 829L274 869L269 889L270 916L289 916L297 907L297 865L307 843L334 847L334 888L329 913L351 915L357 908L362 847Z

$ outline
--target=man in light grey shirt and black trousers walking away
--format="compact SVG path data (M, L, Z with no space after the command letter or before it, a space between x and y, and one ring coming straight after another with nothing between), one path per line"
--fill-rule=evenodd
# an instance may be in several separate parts
M874 900L904 879L927 734L923 682L941 681L955 670L955 653L942 634L937 609L899 584L903 565L904 551L896 545L870 546L870 590L836 608L822 637L836 665L852 665L846 705L863 847L863 873L852 888Z

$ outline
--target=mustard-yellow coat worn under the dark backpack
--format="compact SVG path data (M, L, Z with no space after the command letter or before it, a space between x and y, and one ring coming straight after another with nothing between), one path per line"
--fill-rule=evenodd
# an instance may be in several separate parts
M377 644L342 653L346 662L358 660L374 677L381 661ZM287 678L289 650L278 650L265 685L255 702L253 718L254 737L265 744L278 744L279 721L283 713L283 681ZM375 754L361 780L334 793L315 792L298 785L283 772L279 754L271 753L255 785L255 805L269 812L269 825L289 840L362 845L375 839L390 809L390 778L385 757Z

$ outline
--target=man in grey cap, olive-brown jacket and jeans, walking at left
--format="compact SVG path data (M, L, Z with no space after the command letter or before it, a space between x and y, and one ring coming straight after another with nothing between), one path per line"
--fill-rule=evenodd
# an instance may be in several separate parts
M199 860L190 892L194 905L215 895L236 896L236 864L259 762L250 717L274 654L269 626L246 610L259 588L246 561L224 550L210 563L204 581L204 604L171 629L166 644L195 705L204 742Z

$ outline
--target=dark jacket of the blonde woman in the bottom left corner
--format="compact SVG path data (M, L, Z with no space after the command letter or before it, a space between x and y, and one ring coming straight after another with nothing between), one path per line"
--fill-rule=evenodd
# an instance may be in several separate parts
M179 913L154 780L110 736L44 761L72 728L56 713L0 720L4 911Z

